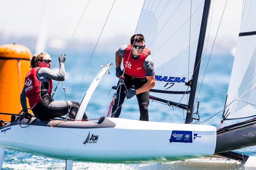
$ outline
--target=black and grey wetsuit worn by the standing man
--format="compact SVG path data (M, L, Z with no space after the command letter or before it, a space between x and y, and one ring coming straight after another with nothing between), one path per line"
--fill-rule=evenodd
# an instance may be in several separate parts
M127 48L127 45L123 45L118 50L118 55L120 57L124 57L126 48ZM135 56L132 54L132 58L135 60L138 59L139 57L140 56ZM146 76L155 75L154 63L153 63L153 59L150 54L144 60L143 67L145 69ZM112 116L111 117L115 117L115 118L119 117L119 115L121 113L121 109L122 109L122 104L124 103L124 99L126 97L124 91L129 90L132 87L132 85L134 85L135 89L138 89L138 88L142 87L146 82L148 82L148 80L146 78L135 78L135 77L129 76L124 73L124 85L126 86L127 89L125 88L124 85L121 85L121 93L120 93L120 100L119 100L120 86L119 86L119 81L118 81L118 83L117 83L118 89L117 89L117 94L116 94L117 98L112 107ZM136 97L137 97L139 108L140 108L140 120L148 121L149 90L136 95ZM119 100L119 104L118 104L118 100ZM117 104L118 104L118 107L119 106L120 107L116 111Z

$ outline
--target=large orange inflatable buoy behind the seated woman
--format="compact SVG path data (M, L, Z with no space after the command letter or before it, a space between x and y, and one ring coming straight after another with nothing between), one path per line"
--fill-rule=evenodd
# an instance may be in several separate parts
M17 114L22 110L20 93L30 70L30 57L31 51L22 45L0 46L0 112ZM0 114L0 120L3 119L9 122L11 116Z

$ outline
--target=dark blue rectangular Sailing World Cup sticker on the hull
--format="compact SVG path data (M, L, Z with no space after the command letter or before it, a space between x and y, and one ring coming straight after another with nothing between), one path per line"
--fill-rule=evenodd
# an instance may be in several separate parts
M193 143L192 131L173 130L169 141L170 143L171 142Z

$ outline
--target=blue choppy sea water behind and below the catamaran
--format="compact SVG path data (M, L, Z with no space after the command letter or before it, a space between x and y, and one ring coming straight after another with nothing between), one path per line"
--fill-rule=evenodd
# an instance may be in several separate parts
M48 51L49 52L49 51ZM51 53L52 57L52 70L58 71L59 54ZM110 69L110 74L106 74L103 80L100 82L98 88L94 92L90 103L87 106L86 113L90 119L100 118L109 102L111 101L115 90L111 89L112 86L117 84L118 79L115 76L115 54L98 53L92 56L92 59L88 65L91 54L70 52L66 55L65 69L66 80L64 85L67 88L68 100L81 101L84 97L84 93L90 86L94 77L100 71L100 66L103 64L113 63L114 66ZM208 56L203 57L200 73L198 78L198 87L204 81L200 89L199 101L199 115L200 122L208 119L214 114L220 112L224 108L228 83L233 66L234 57L231 55L225 56L211 56L209 64L207 65ZM155 59L155 58L153 58ZM85 74L84 71L88 66ZM178 67L178 66L177 66ZM82 77L84 76L83 80ZM53 81L53 87L57 85L56 81ZM79 88L79 89L78 89ZM110 91L110 92L109 92ZM197 89L197 92L199 90ZM108 95L109 94L109 95ZM196 97L197 97L196 93ZM100 96L100 99L99 99ZM56 91L54 100L65 100L65 93L61 83ZM18 100L18 99L17 99ZM173 112L174 107L168 107L165 104L151 101L149 103L149 121L164 122L169 115ZM195 111L196 112L196 109ZM220 124L222 113L220 113L215 119L210 121L208 125L218 127ZM133 120L139 120L139 106L136 97L125 100L122 106L122 112L120 118L127 118ZM185 113L180 109L175 109L172 116L167 122L172 123L184 123ZM206 121L208 122L208 121ZM203 124L205 124L204 122ZM40 132L38 132L40 133ZM256 155L256 148L250 147L243 150L238 150L247 155ZM74 162L73 169L171 169L175 168L172 164L163 166L164 164L102 164L102 163L85 163ZM176 167L177 168L177 167ZM175 169L176 169L175 168ZM206 167L205 167L206 168ZM5 150L3 169L65 169L65 160L58 160L53 158L46 158L33 154L23 153L19 151ZM207 169L207 168L206 168Z

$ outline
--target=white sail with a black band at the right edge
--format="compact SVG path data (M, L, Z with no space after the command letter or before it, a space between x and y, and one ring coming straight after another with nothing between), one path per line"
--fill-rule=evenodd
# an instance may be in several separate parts
M253 33L254 31L254 33ZM247 0L228 87L226 119L256 115L256 1ZM235 101L234 101L235 100ZM240 101L241 100L241 101ZM245 103L247 102L247 103ZM254 104L254 105L253 105Z

